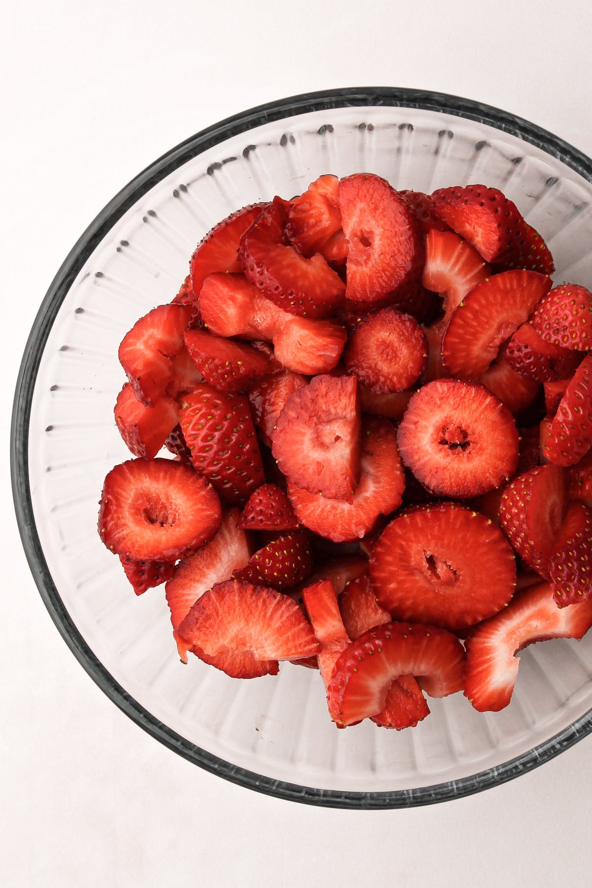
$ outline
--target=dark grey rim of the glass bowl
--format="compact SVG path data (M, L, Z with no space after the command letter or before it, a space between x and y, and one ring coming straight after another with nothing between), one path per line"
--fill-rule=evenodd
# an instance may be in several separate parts
M495 129L509 132L555 157L592 183L592 160L572 147L563 139L521 117L509 114L499 108L482 104L473 99L448 95L442 92L416 90L399 87L351 87L316 91L290 96L264 105L249 108L240 114L209 126L189 139L173 147L166 154L151 163L130 183L122 188L101 210L91 225L83 232L67 255L36 315L28 337L20 366L12 408L11 428L11 475L12 496L16 511L20 537L28 559L28 565L47 607L51 619L60 635L67 643L78 662L89 673L99 688L129 718L151 734L164 746L177 752L195 765L217 774L247 789L272 797L301 802L308 805L321 805L334 808L359 810L389 809L430 805L461 798L489 789L512 780L522 773L533 770L555 757L564 749L569 749L592 731L592 710L564 728L555 736L530 749L519 757L496 765L457 781L446 781L415 789L394 789L375 792L354 792L349 790L318 789L301 786L287 781L274 780L261 774L232 765L204 749L185 740L180 734L162 724L133 697L107 671L105 666L87 646L83 636L59 596L36 532L36 522L31 500L28 475L28 432L30 410L36 376L47 342L51 326L59 307L67 295L76 275L99 242L138 201L138 199L162 178L176 170L181 164L200 155L210 147L232 136L249 131L264 123L288 119L313 111L330 110L339 107L408 107L435 111L441 114L466 118L485 123Z

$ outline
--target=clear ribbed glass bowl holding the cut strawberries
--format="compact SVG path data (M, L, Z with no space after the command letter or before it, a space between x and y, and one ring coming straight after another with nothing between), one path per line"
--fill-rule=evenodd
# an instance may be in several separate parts
M105 693L197 765L271 795L385 808L467 795L556 755L592 725L592 633L521 656L508 709L430 701L414 730L335 729L318 674L285 664L237 681L182 666L161 590L136 598L97 533L97 503L128 458L114 425L117 347L170 299L195 244L247 203L320 175L370 171L397 188L500 187L549 243L556 281L592 283L592 162L491 107L437 93L351 89L255 108L164 155L76 243L28 341L12 429L20 531L43 601Z

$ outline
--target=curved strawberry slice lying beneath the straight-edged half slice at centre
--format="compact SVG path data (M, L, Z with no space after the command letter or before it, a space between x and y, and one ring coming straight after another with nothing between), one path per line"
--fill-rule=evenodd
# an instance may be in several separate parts
M397 432L388 420L372 417L362 424L360 470L351 503L311 494L288 483L288 496L304 527L334 543L343 543L361 539L379 515L399 508L405 480Z

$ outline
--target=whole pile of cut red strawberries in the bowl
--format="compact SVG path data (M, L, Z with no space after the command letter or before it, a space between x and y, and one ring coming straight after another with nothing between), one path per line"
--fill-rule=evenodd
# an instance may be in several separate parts
M339 726L508 705L592 625L592 295L495 188L233 213L122 341L99 534L181 659L318 668ZM166 447L173 458L157 456ZM589 451L589 452L588 452Z

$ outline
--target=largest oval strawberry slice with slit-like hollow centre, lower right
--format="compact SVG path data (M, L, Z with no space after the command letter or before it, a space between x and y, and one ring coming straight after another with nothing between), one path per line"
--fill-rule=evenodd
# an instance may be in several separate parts
M394 618L453 631L495 614L516 584L501 530L458 503L416 506L391 521L369 569L378 604Z

